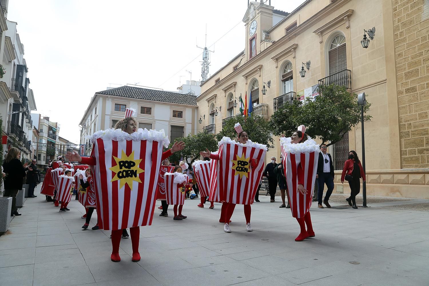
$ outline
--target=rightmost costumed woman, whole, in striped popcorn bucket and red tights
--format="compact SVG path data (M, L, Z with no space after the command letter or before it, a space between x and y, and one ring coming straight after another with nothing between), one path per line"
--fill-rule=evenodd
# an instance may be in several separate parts
M320 148L313 139L305 134L304 125L299 126L290 138L282 137L280 142L290 210L301 229L295 241L303 241L315 236L311 223L310 206ZM307 225L307 229L305 229L305 225Z

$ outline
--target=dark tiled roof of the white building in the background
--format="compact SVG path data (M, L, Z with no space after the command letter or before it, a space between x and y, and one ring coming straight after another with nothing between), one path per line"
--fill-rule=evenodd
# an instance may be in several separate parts
M135 99L171 102L178 104L196 105L196 96L172 91L154 90L149 88L121 86L97 92L98 94L120 96Z

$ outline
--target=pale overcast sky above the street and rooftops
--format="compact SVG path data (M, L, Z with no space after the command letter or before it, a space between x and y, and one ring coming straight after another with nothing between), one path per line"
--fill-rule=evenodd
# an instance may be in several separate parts
M210 74L244 49L247 0L9 0L38 113L79 144L91 97L127 83L176 90L201 79L207 24ZM292 12L304 0L272 0ZM219 40L220 39L220 40ZM216 42L216 43L215 43ZM215 43L213 45L213 43Z

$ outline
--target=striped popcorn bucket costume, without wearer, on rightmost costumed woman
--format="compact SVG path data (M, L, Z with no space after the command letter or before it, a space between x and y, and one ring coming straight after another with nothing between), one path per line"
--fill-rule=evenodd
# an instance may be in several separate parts
M310 210L320 148L311 138L298 144L290 141L288 137L281 138L280 149L292 217L301 218ZM298 184L308 191L306 195L298 192Z

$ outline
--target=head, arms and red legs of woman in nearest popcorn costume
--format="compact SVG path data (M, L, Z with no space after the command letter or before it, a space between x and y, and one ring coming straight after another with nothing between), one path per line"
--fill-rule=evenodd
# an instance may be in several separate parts
M132 108L130 108L132 109ZM127 108L126 111L126 117L115 125L115 129L121 129L124 132L127 132L128 134L133 134L137 131L137 121L132 117L132 115L135 114L135 111L129 112L129 108ZM170 155L172 155L176 151L180 151L184 148L184 142L179 141L175 142L171 149L168 151L163 152L162 159L164 160L168 158ZM90 166L95 166L97 164L97 160L95 157L81 157L78 152L67 152L66 155L67 159L72 162L80 162L83 164L87 164ZM112 255L110 256L110 259L113 262L119 262L121 261L121 257L119 256L119 244L121 243L121 235L123 230L112 230ZM130 228L130 235L131 235L131 242L133 246L133 262L140 261L140 253L139 253L139 238L140 238L140 228L138 226L131 227Z

